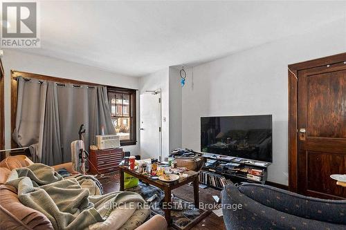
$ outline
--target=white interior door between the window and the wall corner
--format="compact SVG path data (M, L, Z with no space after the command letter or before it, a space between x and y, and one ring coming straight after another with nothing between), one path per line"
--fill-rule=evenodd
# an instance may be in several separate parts
M140 158L157 158L161 153L161 93L140 95Z

